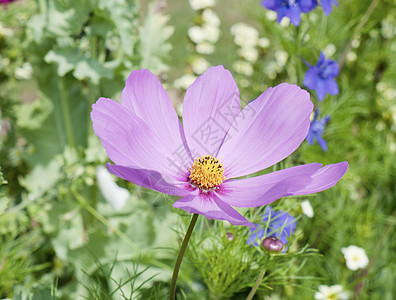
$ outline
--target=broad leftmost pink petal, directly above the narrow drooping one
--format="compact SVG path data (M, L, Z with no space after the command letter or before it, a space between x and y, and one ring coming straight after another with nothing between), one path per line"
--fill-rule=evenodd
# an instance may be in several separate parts
M92 105L91 118L96 135L115 164L153 170L173 178L181 173L172 165L169 149L153 130L118 102L100 98Z

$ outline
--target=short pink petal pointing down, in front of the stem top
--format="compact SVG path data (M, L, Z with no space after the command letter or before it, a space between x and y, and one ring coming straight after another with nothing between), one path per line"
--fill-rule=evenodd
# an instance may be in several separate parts
M214 193L188 195L173 204L191 214L204 215L208 219L227 220L234 225L254 227L240 213L220 200Z

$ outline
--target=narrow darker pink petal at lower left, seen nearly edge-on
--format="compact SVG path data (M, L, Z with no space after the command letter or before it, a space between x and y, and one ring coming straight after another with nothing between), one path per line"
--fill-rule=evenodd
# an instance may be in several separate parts
M174 196L185 196L189 194L187 191L175 186L171 178L167 178L158 172L112 164L107 164L106 166L113 175L133 182L141 187Z

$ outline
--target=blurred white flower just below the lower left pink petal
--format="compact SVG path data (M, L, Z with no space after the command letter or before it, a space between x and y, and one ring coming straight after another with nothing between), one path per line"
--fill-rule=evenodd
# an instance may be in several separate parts
M103 166L96 168L96 179L103 197L111 204L115 211L122 209L131 194L125 188L117 185L112 175Z

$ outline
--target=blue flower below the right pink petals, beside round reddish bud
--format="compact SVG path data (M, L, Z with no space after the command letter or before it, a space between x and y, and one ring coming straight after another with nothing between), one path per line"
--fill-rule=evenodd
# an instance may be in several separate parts
M267 224L268 220L269 224ZM292 215L283 210L276 212L271 206L267 206L263 215L263 224L255 224L255 227L250 229L247 243L258 246L258 242L261 242L265 237L275 236L285 245L287 244L287 238L295 230L296 219Z

